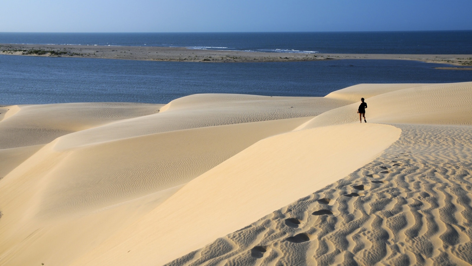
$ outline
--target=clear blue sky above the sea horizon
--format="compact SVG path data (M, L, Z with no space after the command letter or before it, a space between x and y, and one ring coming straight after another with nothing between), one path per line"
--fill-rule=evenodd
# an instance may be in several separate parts
M0 32L472 30L472 0L4 0Z

